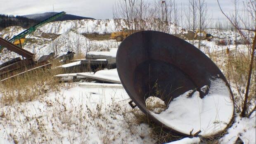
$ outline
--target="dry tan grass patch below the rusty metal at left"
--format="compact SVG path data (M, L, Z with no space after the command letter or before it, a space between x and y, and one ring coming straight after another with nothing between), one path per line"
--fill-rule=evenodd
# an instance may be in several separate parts
M59 90L59 80L54 76L62 69L38 68L0 83L2 96L0 103L11 105L14 102L33 101L48 91ZM16 72L20 73L20 71Z

